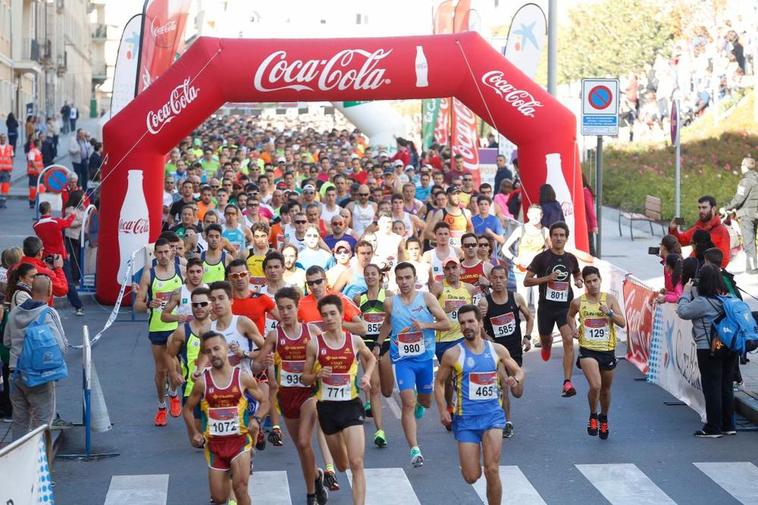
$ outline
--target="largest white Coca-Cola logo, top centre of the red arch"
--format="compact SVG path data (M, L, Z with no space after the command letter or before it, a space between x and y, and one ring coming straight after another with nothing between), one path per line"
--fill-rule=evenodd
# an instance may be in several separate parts
M392 49L343 49L325 60L287 60L286 51L268 55L255 71L253 85L258 91L269 93L283 89L295 91L321 91L337 89L372 90L383 84L385 69L379 62L392 53Z

